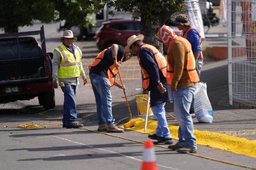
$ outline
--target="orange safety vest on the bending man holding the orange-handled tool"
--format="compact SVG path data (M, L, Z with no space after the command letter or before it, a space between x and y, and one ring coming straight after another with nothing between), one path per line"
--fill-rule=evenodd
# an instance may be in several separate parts
M109 50L109 49L111 49L111 48L112 48L112 47L109 47L109 48L107 48L107 49L101 51L101 52L97 55L97 57L95 58L94 62L91 63L91 65L89 66L89 69L90 69L91 67L93 67L93 66L97 66L98 63L102 61L102 59L103 59L103 57L104 57L105 51L107 51L107 50ZM123 58L124 58L124 57L122 57L122 58L120 59L120 61L118 61L119 64L122 63ZM111 66L109 66L109 68L108 68L108 79L109 79L109 82L110 82L110 86L113 86L113 85L114 85L114 82L115 82L115 78L116 78L116 74L117 74L117 73L118 73L118 70L116 69L116 67L114 66L114 64L111 65Z

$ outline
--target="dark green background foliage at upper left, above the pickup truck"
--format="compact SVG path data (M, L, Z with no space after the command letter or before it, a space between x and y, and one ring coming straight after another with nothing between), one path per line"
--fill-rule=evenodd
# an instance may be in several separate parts
M87 14L97 13L105 3L93 0L2 0L0 28L18 32L18 27L32 26L35 20L44 23L67 20L79 26L91 23Z

